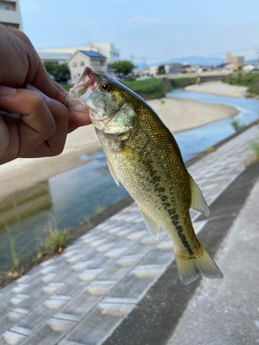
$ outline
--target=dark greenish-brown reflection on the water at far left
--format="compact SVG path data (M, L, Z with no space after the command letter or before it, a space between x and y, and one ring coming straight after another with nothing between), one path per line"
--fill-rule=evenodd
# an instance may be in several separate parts
M0 271L11 265L6 224L12 239L15 239L19 256L26 257L35 250L37 239L44 237L52 206L48 181L33 186L26 193L12 195L0 203Z

